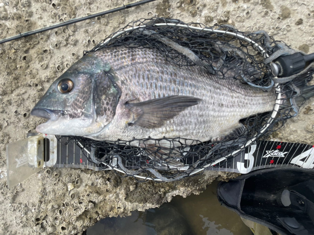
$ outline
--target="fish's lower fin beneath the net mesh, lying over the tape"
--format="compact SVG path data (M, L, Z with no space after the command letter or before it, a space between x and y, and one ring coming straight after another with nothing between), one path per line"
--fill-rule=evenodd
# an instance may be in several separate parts
M175 168L184 167L184 163L179 162L176 158L181 158L180 152L175 148L168 148L160 145L145 144L144 151L151 159L162 159L163 165Z

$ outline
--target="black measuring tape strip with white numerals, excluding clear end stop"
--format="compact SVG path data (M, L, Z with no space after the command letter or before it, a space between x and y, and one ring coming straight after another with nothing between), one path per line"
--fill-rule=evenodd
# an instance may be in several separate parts
M57 136L60 138L61 136ZM67 137L64 142L67 142ZM44 167L57 168L87 168L93 170L108 170L109 166L101 166L88 161L89 153L75 143L62 144L56 136L46 135L44 138ZM49 150L49 151L48 151ZM113 159L114 161L114 159ZM116 163L110 163L115 166ZM118 166L116 166L119 168ZM246 147L245 151L229 160L219 162L205 170L228 171L241 174L253 170L270 167L303 167L314 168L314 145L261 141ZM182 168L182 170L185 170Z

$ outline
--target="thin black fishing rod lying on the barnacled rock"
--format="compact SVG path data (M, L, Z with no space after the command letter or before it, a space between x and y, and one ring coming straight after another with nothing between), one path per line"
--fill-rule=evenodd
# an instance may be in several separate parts
M99 13L95 13L95 14L91 14L91 15L87 15L87 16L83 16L83 17L79 17L79 18L75 18L75 19L70 19L70 20L64 21L62 23L54 24L54 25L47 26L47 27L44 27L44 28L41 28L41 29L35 29L35 30L31 30L29 32L19 33L18 35L15 35L15 36L12 36L12 37L0 40L0 44L5 43L5 42L9 42L9 41L13 41L13 40L16 40L16 39L24 38L24 37L27 37L27 36L30 36L30 35L39 34L39 33L42 33L42 32L45 32L45 31L48 31L48 30L51 30L51 29L60 28L60 27L63 27L63 26L69 25L69 24L74 24L74 23L77 23L77 22L81 22L81 21L84 21L84 20L87 20L87 19L92 19L92 18L96 18L96 17L102 16L102 15L107 15L107 14L110 14L110 13L122 11L122 10L125 10L125 9L128 9L128 8L137 7L137 6L140 6L140 5L143 5L143 4L146 4L146 3L150 3L150 2L154 2L154 1L157 1L157 0L141 0L141 1L138 1L138 2L134 2L134 3L123 4L120 7L116 7L116 8L107 10L107 11L102 11L102 12L99 12Z

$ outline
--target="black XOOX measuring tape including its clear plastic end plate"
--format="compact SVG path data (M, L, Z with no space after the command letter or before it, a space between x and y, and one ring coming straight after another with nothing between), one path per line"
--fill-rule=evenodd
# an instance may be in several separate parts
M7 144L7 183L8 187L19 184L24 179L39 172L44 167L56 168L85 168L111 170L124 173L118 166L117 158L109 163L96 164L89 161L89 150L77 143L68 143L66 136L54 136L29 133L29 138ZM58 141L59 139L60 141ZM139 158L141 156L138 156ZM189 165L176 170L187 170ZM149 166L149 165L147 165ZM132 168L130 166L125 166ZM138 167L138 166L137 166ZM195 169L189 175L202 170L227 171L246 174L261 168L273 167L302 167L314 168L314 145L289 143L278 141L261 141L244 148L244 151L235 153L231 158L220 158L216 162L203 168ZM165 166L156 166L156 169L169 170ZM152 179L141 175L134 175L142 179ZM152 179L161 181L161 179Z

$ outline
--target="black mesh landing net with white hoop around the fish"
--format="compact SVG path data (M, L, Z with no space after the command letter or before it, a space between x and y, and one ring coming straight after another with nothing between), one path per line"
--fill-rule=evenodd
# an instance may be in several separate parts
M236 34L240 37L234 36ZM250 40L253 43L248 42ZM270 61L266 63L265 58L276 52L282 55L284 52L280 54L278 51L284 49L292 50L283 42L275 41L264 31L239 32L230 25L208 28L203 24L186 24L177 19L141 19L131 22L101 41L91 51L84 51L84 55L119 46L158 49L167 61L180 67L203 66L208 74L214 74L219 79L238 79L264 92L274 92L276 89L277 100L273 101L273 111L240 120L243 126L222 139L207 142L179 137L153 139L149 136L145 139L115 142L79 136L59 139L63 143L75 142L89 150L91 154L88 158L91 162L104 163L107 167L121 169L124 176L138 175L143 180L182 179L200 169L209 166L214 168L215 162L227 161L235 154L245 151L244 147L265 140L270 133L281 128L287 119L297 115L299 107L307 98L302 96L302 88L311 81L314 73L311 67L307 67L306 71L290 77L290 81L283 79L283 83L280 83L279 78L272 79ZM132 146L133 141L140 143L139 147ZM181 162L181 167L184 167L172 167L172 161Z

